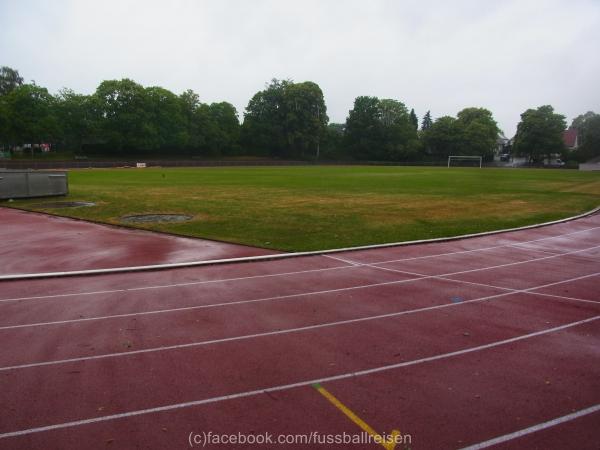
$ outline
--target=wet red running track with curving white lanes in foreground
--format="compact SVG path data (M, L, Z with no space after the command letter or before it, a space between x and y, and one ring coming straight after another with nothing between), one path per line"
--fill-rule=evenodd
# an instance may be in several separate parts
M599 323L600 215L330 256L5 281L0 448L358 436L346 408L378 434L410 436L398 449L597 449Z

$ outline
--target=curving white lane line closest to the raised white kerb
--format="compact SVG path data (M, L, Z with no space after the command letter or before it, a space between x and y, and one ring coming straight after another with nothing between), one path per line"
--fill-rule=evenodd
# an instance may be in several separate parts
M548 239L559 239L559 238L563 238L565 236L570 236L570 235L574 235L574 234L578 234L578 233L585 233L585 232L593 231L593 230L596 230L599 228L600 228L600 226L592 227L592 228L587 228L585 230L573 231L573 232L565 233L565 234L561 234L561 235L547 236L544 238L533 239L530 241L524 241L519 244L528 244L528 243L539 242L539 241L544 241L544 240L548 240ZM473 249L473 250L460 250L460 251L455 251L455 252L439 253L439 254L435 254L435 255L416 256L416 257L411 257L411 258L393 259L393 260L388 260L388 261L378 261L378 262L373 262L373 263L368 263L368 264L385 264L385 263L390 263L390 262L414 261L414 260L419 260L419 259L437 258L440 256L450 256L450 255L457 255L457 254L463 254L463 253L472 253L472 252L493 250L493 249L497 249L497 248L510 247L510 246L514 246L514 245L516 245L516 243L495 245L495 246L491 246L491 247L483 247L483 248L478 248L478 249ZM16 301L23 301L23 300L41 300L41 299L56 299L56 298L64 298L64 297L78 297L78 296L84 296L84 295L115 294L115 293L119 293L119 292L138 291L138 290L146 290L146 289L169 289L169 288L175 288L175 287L181 287L181 286L194 286L194 285L207 284L207 283L224 283L224 282L228 282L228 281L252 280L252 279L260 279L260 278L268 278L268 277L297 275L297 274L303 274L303 273L324 272L324 271L328 271L328 270L351 269L353 267L360 267L362 265L368 265L368 264L360 263L357 261L350 262L350 260L334 258L331 255L322 255L322 256L329 256L330 258L338 259L340 261L344 261L347 264L351 264L351 265L350 266L326 267L326 268L322 268L322 269L301 270L301 271L296 271L296 272L283 272L283 273L267 274L267 275L253 275L253 276L247 276L247 277L224 278L224 279L218 279L218 280L202 280L202 281L190 281L190 282L185 282L185 283L173 283L173 284L154 285L154 286L140 286L140 287L124 288L124 289L112 289L112 290L90 291L90 292L72 292L72 293L64 293L64 294L38 295L38 296L30 296L30 297L15 297L15 298L0 299L0 303L16 302Z

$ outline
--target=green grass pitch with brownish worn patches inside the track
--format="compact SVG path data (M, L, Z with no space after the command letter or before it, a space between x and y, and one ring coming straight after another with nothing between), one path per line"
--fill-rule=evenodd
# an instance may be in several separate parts
M182 213L140 228L278 250L379 244L497 230L600 205L600 174L572 170L302 166L90 169L69 173L53 214L121 224L129 214ZM10 203L24 209L43 200Z

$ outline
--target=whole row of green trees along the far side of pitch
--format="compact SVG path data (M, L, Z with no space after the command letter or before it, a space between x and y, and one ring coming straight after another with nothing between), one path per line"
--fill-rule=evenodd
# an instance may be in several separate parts
M600 116L576 119L586 152L595 154ZM575 122L575 121L574 121ZM539 161L564 150L565 118L551 106L521 115L513 152ZM227 102L206 104L133 80L107 80L91 95L23 83L0 68L0 146L52 143L55 148L111 157L263 156L369 161L439 160L449 155L493 158L499 128L491 111L465 108L433 120L401 101L359 96L343 124L330 123L321 88L313 82L272 80L248 102L240 123Z

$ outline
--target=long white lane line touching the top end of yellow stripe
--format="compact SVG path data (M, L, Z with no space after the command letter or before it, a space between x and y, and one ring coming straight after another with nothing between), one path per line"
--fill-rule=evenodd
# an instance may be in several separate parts
M306 387L306 386L310 386L315 383L322 384L322 383L329 383L332 381L344 380L344 379L348 379L348 378L362 377L362 376L371 375L374 373L384 372L384 371L393 370L393 369L399 369L401 367L414 366L417 364L423 364L423 363L427 363L427 362L431 362L431 361L439 361L439 360L443 360L443 359L447 359L447 358L452 358L454 356L461 356L461 355L465 355L468 353L478 352L481 350L496 348L496 347L500 347L502 345L511 344L513 342L519 342L519 341L523 341L526 339L531 339L533 337L543 336L546 334L555 333L557 331L562 331L562 330L566 330L569 328L577 327L579 325L593 322L594 320L598 320L598 319L600 319L600 316L593 316L588 319L579 320L577 322L570 322L570 323L567 323L565 325L561 325L558 327L548 328L546 330L536 331L534 333L528 333L528 334L524 334L521 336L510 338L510 339L504 339L501 341L492 342L489 344L479 345L476 347L466 348L466 349L457 350L457 351L449 352L449 353L441 353L441 354L429 356L426 358L414 359L411 361L390 364L387 366L374 367L371 369L365 369L365 370L360 370L360 371L356 371L356 372L346 372L346 373L342 373L339 375L333 375L333 376L329 376L329 377L315 378L312 380L305 380L305 381L299 381L296 383L271 386L271 387L267 387L267 388L263 388L263 389L256 389L256 390L246 391L246 392L238 392L235 394L222 395L222 396L218 396L218 397L193 400L193 401L183 402L183 403L174 403L174 404L170 404L170 405L157 406L154 408L140 409L140 410L135 410L135 411L127 411L127 412L123 412L123 413L119 413L119 414L111 414L111 415L107 415L107 416L92 417L89 419L75 420L72 422L63 422L63 423L57 423L57 424L53 424L53 425L45 425L45 426L41 426L41 427L27 428L27 429L18 430L18 431L11 431L11 432L0 434L0 439L24 436L24 435L33 434L33 433L41 433L44 431L72 428L72 427L77 427L77 426L82 426L82 425L89 425L92 423L107 422L110 420L124 419L127 417L141 416L141 415L145 415L145 414L152 414L152 413L158 413L158 412L164 412L164 411L172 411L172 410L176 410L176 409L189 408L189 407L193 407L193 406L200 406L200 405L206 405L206 404L210 404L210 403L222 402L225 400L233 400L233 399L238 399L238 398L252 397L252 396L256 396L256 395L260 395L260 394L284 391L284 390L298 388L298 387Z

